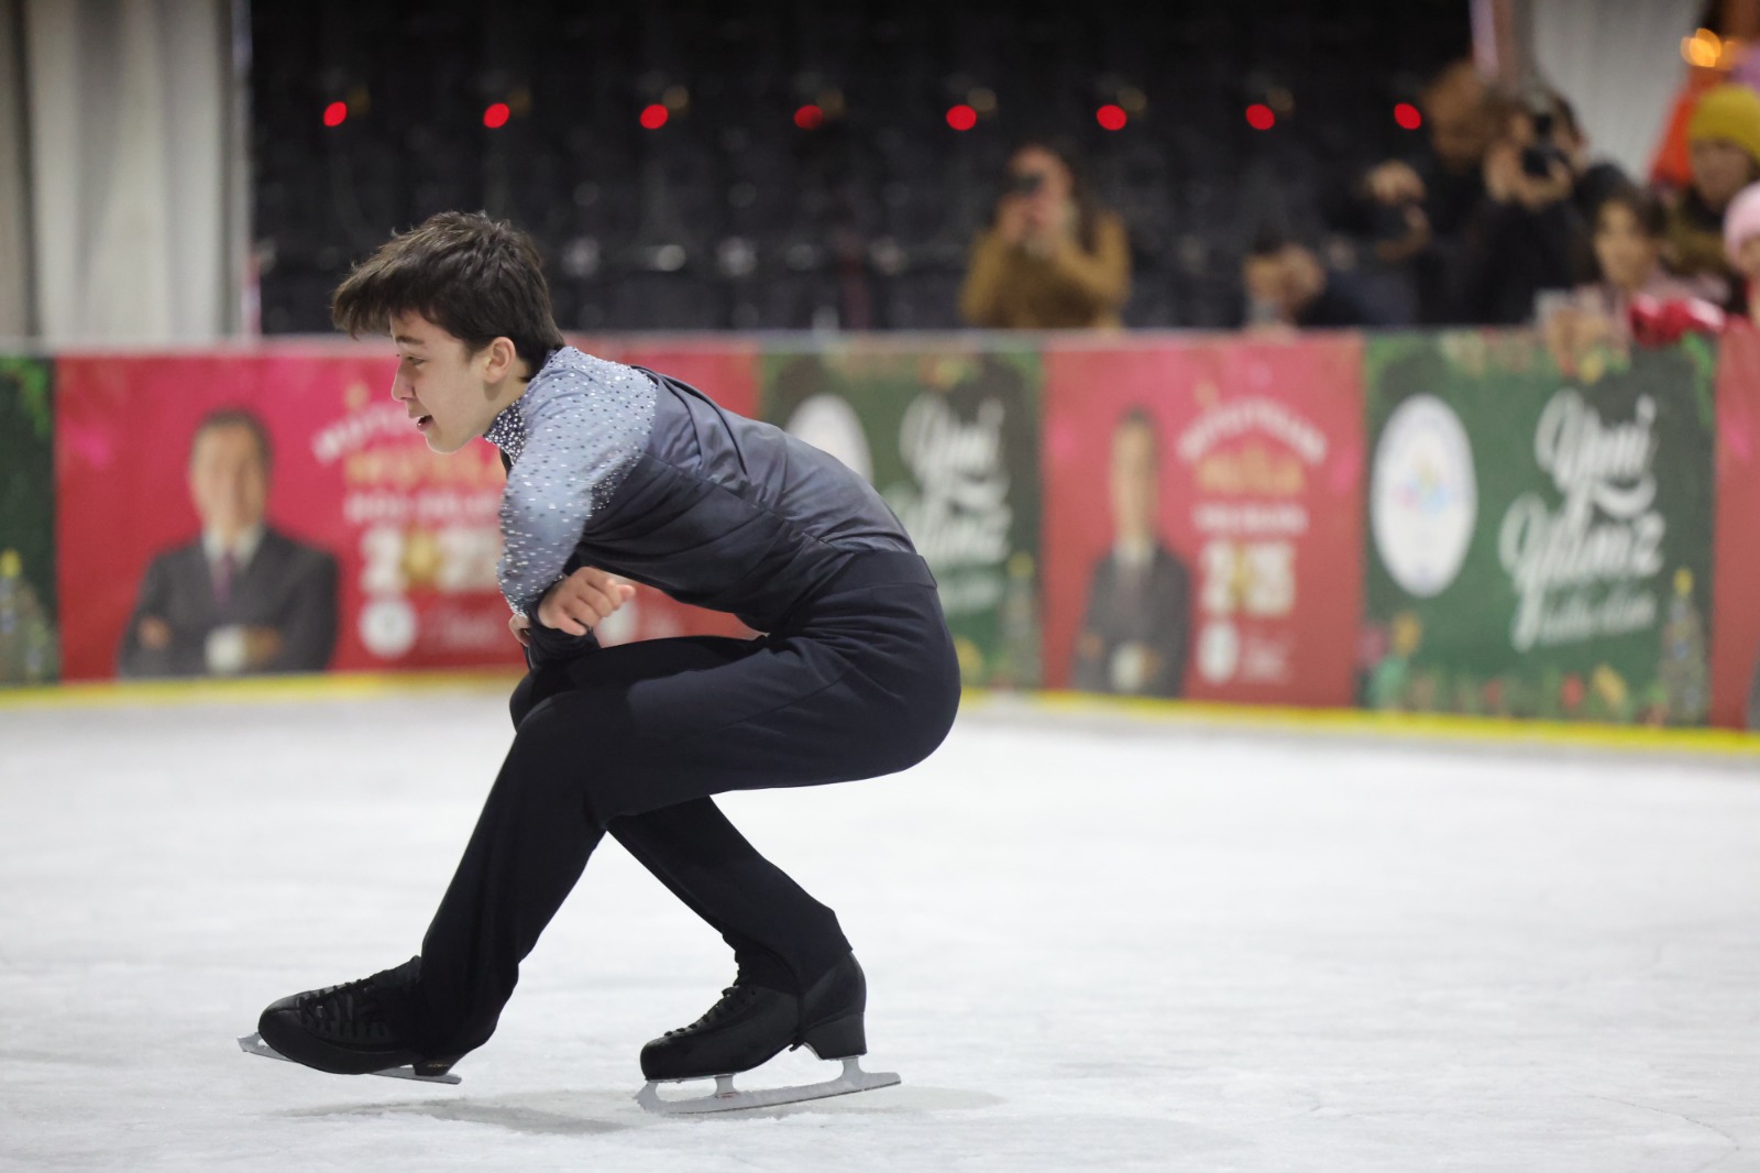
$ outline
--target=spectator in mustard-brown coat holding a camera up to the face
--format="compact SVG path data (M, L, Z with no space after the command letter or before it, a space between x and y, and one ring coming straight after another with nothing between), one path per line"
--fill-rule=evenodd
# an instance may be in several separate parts
M1123 220L1095 203L1065 151L1017 148L996 220L972 247L961 317L1003 329L1118 326L1126 298Z

